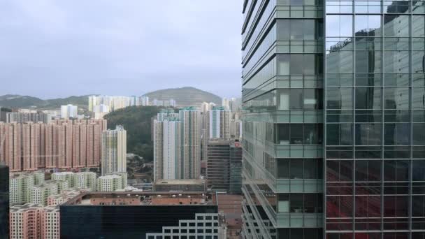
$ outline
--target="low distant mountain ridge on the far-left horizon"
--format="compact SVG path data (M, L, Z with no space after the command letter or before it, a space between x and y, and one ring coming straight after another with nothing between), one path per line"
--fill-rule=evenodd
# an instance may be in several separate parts
M66 98L43 100L34 96L21 96L18 94L6 94L0 96L0 106L8 108L38 108L54 109L65 104L73 104L82 108L87 108L88 96L69 96Z

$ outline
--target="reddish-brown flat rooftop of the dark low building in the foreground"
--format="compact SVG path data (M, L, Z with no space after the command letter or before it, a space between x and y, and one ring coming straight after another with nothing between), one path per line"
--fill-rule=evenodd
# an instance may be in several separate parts
M217 205L217 197L199 191L82 192L62 205Z

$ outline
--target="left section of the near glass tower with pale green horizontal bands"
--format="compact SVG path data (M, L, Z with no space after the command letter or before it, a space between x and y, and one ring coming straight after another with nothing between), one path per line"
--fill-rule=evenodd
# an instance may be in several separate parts
M322 238L323 8L244 2L245 238Z

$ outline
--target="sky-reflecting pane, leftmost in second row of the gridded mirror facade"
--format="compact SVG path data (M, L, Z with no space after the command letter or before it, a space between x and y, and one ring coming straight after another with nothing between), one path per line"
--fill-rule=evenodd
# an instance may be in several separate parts
M352 24L352 15L327 15L326 37L350 37Z

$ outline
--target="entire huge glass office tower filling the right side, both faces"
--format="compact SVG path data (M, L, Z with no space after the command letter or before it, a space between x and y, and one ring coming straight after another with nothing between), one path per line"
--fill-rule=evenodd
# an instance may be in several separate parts
M424 4L244 1L245 238L425 239Z

